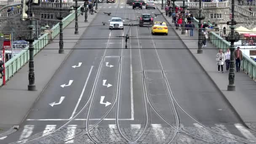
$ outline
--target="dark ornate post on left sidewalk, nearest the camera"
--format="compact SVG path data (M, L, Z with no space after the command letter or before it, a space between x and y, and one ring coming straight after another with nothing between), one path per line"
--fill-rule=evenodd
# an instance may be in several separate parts
M36 91L35 87L35 71L34 71L34 45L33 42L35 40L34 37L34 25L33 25L34 18L30 18L30 24L27 26L29 28L29 36L27 41L29 42L29 85L28 91Z

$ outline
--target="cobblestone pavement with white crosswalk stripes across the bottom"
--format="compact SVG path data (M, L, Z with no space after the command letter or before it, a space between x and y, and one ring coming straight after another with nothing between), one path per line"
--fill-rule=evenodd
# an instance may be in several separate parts
M147 128L145 133L141 136L144 128L120 128L121 133L129 141L134 142L141 136L136 144L168 144L174 133L174 129L171 127L161 127L152 124ZM207 127L212 131L197 127L181 127L180 131L185 133L177 133L171 144L256 144L256 139L245 139L239 136L235 136L229 133L224 125L216 125L214 127ZM11 144L20 144L22 142L35 139L40 136L45 136L51 133L53 130L45 130L40 133L36 133L26 139L13 142ZM80 136L82 135L83 136ZM128 144L128 142L122 138L115 125L109 126L109 128L93 128L90 132L91 138L98 144ZM74 137L78 138L72 139ZM67 142L67 140L71 139ZM202 140L202 141L201 141ZM62 128L60 131L46 136L42 139L32 141L28 144L58 144L60 141L65 141L71 144L94 144L85 133L83 128Z

